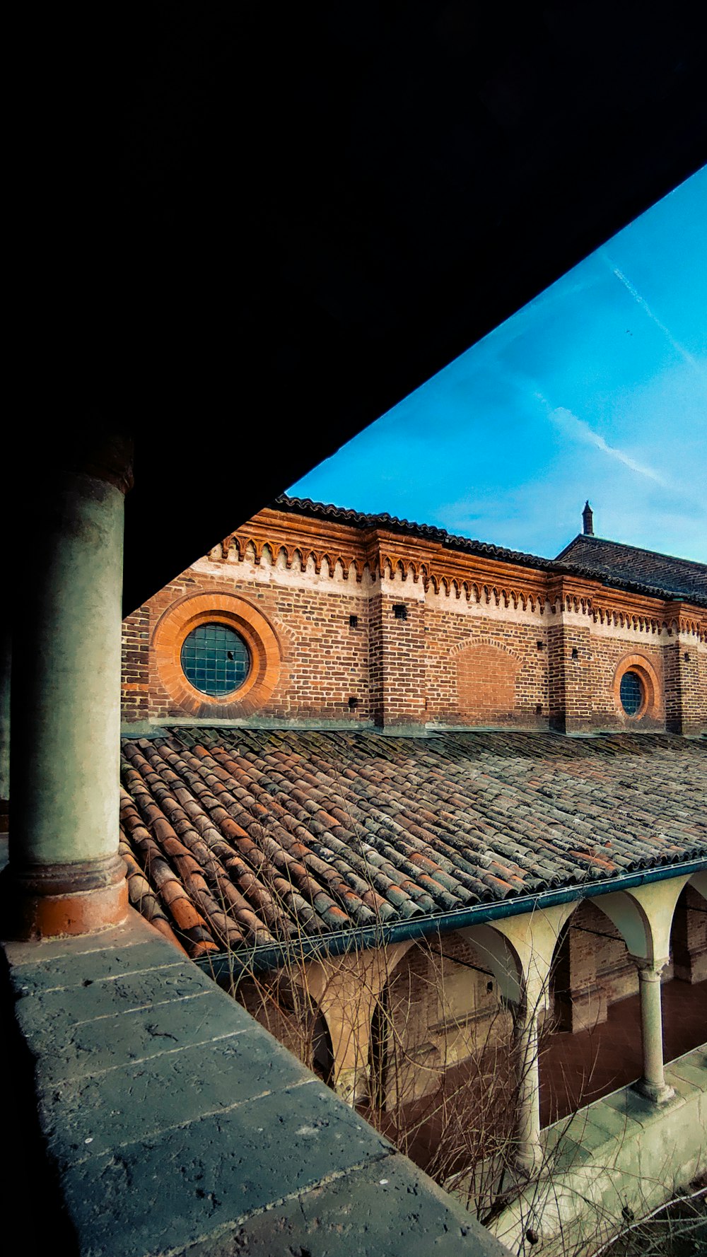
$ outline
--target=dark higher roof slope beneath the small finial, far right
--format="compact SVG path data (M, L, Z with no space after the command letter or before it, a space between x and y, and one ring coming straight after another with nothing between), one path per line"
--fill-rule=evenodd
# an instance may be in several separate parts
M688 558L658 554L638 546L580 533L556 562L562 567L580 564L609 577L652 585L676 598L707 600L707 563L694 563Z

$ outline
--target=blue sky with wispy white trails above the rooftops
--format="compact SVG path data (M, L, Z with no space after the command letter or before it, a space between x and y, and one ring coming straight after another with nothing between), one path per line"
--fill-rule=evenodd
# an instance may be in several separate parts
M707 562L707 167L288 490L554 556Z

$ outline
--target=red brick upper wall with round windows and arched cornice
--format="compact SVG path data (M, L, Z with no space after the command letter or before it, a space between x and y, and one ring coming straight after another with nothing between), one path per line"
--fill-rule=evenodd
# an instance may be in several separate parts
M231 623L248 683L208 699L190 626ZM642 679L626 716L620 679ZM707 728L707 612L400 530L265 509L123 626L123 719L322 725Z

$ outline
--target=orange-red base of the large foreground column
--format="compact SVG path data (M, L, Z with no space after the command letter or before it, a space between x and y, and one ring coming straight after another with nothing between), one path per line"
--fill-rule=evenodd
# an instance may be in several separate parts
M21 940L92 934L120 925L128 914L126 867L120 856L81 865L4 870L3 935Z

